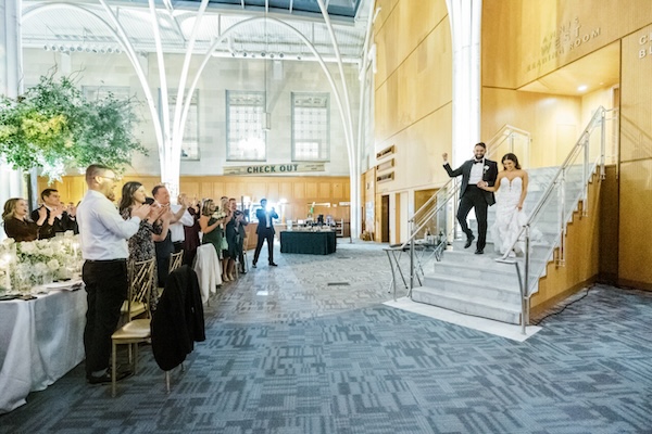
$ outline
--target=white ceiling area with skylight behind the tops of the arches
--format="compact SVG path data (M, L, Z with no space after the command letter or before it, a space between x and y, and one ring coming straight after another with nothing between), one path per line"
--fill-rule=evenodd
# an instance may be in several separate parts
M344 62L362 59L371 2L324 0ZM147 0L105 0L104 3L137 52L155 51L152 14ZM294 28L326 61L335 59L328 28L316 0L210 0L201 21L197 18L200 1L155 0L155 7L163 51L167 53L185 52L195 26L199 25L196 53L205 53L215 40L228 33L214 55L314 59L292 30ZM243 23L252 17L271 20ZM122 48L115 38L117 30L100 0L23 1L25 48L99 54L120 52Z

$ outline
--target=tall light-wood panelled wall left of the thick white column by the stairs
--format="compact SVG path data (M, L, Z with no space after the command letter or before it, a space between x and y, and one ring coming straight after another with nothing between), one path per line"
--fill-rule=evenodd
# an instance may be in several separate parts
M408 204L402 206L408 212L414 210L415 189L431 189L448 180L441 154L451 151L450 24L444 0L419 2L418 8L413 0L380 0L377 5L381 10L374 24L375 148L394 145L396 154L394 179L378 183L376 193L394 199L408 193ZM391 216L397 237L406 225L402 220Z

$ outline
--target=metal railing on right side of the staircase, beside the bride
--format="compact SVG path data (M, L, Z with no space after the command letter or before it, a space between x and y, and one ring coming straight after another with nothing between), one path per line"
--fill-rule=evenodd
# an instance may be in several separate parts
M526 324L529 323L530 298L538 291L539 279L543 276L555 248L559 248L557 265L564 266L566 263L567 226L580 202L582 213L587 215L589 183L597 169L601 179L604 179L605 125L610 112L613 111L602 106L595 111L530 213L526 225L509 250L522 250L523 256L504 260L514 264L518 275L522 297L521 324L524 334ZM551 216L554 216L556 221L552 228L547 221Z

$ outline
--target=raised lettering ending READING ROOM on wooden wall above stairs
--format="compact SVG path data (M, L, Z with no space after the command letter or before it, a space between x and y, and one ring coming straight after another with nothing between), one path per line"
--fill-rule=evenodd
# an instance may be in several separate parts
M541 40L541 53L535 62L525 66L526 72L538 69L548 62L553 61L564 54L572 52L580 46L598 38L601 35L601 28L582 29L578 17L563 23Z

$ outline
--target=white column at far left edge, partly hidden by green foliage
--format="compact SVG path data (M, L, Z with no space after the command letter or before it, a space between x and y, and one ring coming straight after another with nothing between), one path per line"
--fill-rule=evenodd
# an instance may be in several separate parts
M15 98L22 92L21 0L0 2L0 93ZM0 206L10 197L25 196L23 174L12 170L0 156ZM0 231L0 239L4 231Z

